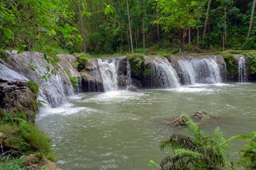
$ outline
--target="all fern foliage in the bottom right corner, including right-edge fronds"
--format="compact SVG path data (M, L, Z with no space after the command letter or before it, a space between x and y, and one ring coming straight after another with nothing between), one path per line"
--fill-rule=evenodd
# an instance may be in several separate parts
M255 169L256 164L256 132L249 135L236 135L225 140L220 128L216 128L211 135L201 129L207 118L201 120L201 125L186 117L191 136L174 134L169 140L160 145L162 150L171 149L171 154L162 159L161 169ZM202 124L203 123L203 124ZM249 140L240 151L237 164L230 162L226 156L228 142L233 140ZM155 162L149 164L154 168Z

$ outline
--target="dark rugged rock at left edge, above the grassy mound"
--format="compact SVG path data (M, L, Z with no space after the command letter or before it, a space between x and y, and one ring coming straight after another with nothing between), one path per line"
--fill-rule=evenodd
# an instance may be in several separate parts
M36 96L26 82L16 80L0 83L0 111L6 110L10 115L23 113L30 123L35 123L37 111Z

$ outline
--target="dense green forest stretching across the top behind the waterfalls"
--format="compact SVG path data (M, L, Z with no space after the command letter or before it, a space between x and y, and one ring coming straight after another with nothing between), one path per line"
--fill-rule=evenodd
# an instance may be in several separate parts
M2 50L91 55L256 49L256 0L4 0Z

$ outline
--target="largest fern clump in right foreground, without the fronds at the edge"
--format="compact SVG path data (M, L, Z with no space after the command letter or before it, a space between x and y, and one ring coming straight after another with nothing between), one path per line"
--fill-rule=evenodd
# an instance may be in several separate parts
M227 149L223 143L223 135L219 128L212 135L207 135L191 118L184 114L189 130L193 136L171 135L162 142L161 149L171 148L169 156L162 159L162 169L222 169L230 166L224 156Z

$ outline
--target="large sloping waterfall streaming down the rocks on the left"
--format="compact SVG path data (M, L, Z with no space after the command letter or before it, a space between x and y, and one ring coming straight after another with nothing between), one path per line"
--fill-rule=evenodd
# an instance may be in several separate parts
M48 77L47 81L41 79L46 73L46 66L53 69L39 52L23 52L18 54L16 51L9 52L11 69L26 75L28 79L33 79L40 84L40 98L43 98L51 107L60 106L65 103L66 96L74 94L73 86L67 77L66 72L59 65L55 75ZM30 67L33 66L35 70Z

